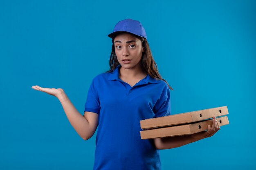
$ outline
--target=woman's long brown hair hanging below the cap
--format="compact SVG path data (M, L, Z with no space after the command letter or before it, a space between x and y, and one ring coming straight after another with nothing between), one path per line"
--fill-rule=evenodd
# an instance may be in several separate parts
M132 35L134 35L134 34L132 34ZM142 57L141 57L141 68L143 69L143 71L146 74L153 77L154 79L161 79L164 82L166 82L166 80L162 79L161 75L158 72L157 64L155 63L155 60L153 59L151 50L149 48L148 41L143 37L139 37L137 35L134 35L134 36L137 37L139 40L141 40L142 46L144 47L144 52L142 53ZM119 65L119 62L117 60L117 55L115 52L114 39L115 39L115 37L112 38L112 51L111 51L110 59L109 59L110 70L107 71L108 73L115 70L115 68ZM171 90L173 90L173 88L171 88L171 86L167 82L166 82L166 84L168 85L168 87Z

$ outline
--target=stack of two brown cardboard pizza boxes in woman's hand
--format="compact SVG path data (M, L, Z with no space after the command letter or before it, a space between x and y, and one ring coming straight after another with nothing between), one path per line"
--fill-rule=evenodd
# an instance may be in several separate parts
M141 120L141 139L191 135L206 131L208 125L212 125L213 117L216 117L220 126L224 126L229 124L227 116L224 116L228 114L227 106L222 106Z

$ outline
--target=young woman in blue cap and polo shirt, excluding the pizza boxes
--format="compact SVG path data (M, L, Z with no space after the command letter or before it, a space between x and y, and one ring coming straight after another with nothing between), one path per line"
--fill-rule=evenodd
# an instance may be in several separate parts
M139 21L118 22L112 33L110 70L94 77L82 116L61 88L33 89L57 97L76 132L87 140L97 131L94 170L160 170L159 149L211 137L220 127L213 117L206 132L141 140L139 121L170 115L170 89L153 60Z

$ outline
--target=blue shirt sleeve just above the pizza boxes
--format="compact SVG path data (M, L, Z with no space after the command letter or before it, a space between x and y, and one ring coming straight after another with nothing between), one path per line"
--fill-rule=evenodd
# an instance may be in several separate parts
M153 111L155 113L155 117L162 117L171 115L171 99L170 99L170 89L167 84L164 87L159 99L157 100Z

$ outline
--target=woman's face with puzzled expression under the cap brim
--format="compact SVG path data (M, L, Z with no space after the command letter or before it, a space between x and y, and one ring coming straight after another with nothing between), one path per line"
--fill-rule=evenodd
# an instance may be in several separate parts
M142 42L134 35L121 33L114 39L115 52L119 64L125 69L140 69L143 52Z

